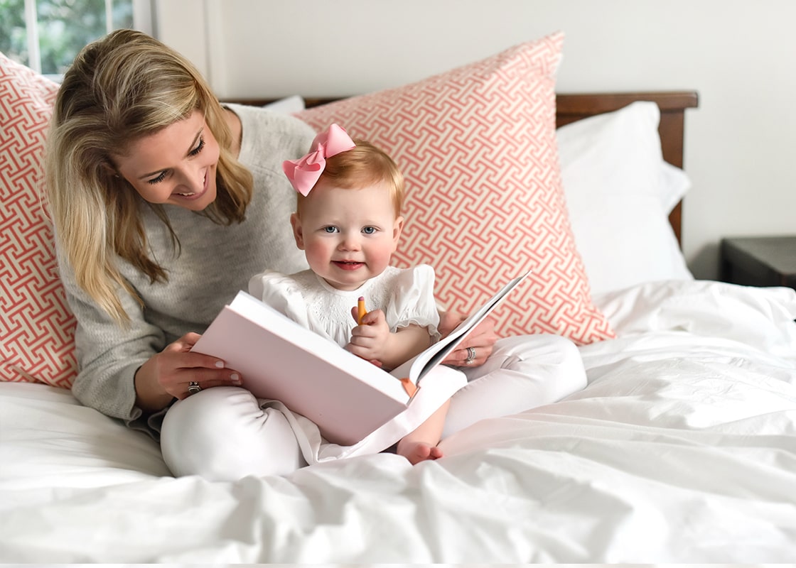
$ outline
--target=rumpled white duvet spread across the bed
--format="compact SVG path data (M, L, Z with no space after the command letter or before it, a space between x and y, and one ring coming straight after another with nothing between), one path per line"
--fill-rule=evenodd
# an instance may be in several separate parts
M595 298L589 384L412 467L170 477L68 391L0 384L2 562L792 562L796 292L657 282Z

